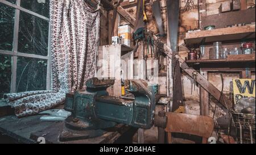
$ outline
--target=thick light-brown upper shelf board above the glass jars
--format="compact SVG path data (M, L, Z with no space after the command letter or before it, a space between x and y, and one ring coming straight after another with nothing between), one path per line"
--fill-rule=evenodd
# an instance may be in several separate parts
M185 44L187 46L200 44L203 39L205 39L205 44L215 41L255 39L255 24L185 33Z

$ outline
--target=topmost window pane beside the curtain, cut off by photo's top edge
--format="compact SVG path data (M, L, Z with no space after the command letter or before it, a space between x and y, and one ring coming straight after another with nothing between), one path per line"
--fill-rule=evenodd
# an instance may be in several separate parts
M49 18L49 0L21 0L20 6Z

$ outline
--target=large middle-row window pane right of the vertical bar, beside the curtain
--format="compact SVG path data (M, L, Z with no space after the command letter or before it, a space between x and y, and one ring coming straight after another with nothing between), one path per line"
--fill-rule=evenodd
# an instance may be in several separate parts
M20 11L18 51L47 56L48 22Z

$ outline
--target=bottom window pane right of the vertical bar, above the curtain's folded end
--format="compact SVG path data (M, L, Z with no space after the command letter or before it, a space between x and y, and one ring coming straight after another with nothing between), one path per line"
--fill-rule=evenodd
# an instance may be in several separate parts
M47 60L18 57L16 91L46 90Z

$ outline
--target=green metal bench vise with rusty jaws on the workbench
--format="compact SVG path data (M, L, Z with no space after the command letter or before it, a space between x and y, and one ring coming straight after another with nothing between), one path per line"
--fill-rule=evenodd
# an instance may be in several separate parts
M109 96L106 89L114 79L90 78L85 91L66 96L65 109L72 115L65 119L60 141L101 136L106 128L123 123L136 128L151 128L155 115L155 95L152 86L143 79L129 80L134 99Z

